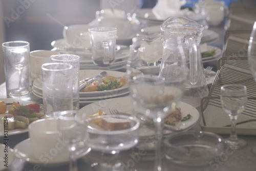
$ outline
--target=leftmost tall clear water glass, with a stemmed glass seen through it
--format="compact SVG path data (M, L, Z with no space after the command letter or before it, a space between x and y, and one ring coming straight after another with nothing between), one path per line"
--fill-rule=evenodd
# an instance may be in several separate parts
M29 98L32 91L29 42L4 42L2 48L7 98Z

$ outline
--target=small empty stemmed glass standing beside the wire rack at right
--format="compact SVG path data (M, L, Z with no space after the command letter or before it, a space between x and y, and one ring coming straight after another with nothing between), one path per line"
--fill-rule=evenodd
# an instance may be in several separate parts
M246 141L239 139L236 132L237 118L245 109L247 102L246 86L241 84L227 84L221 87L221 104L231 120L231 134L225 143L231 149L241 149L247 145Z

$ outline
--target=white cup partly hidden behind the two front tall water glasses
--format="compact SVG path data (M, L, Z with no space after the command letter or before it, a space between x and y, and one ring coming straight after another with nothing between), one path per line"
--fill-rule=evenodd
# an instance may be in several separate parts
M44 63L51 62L52 55L58 55L59 52L50 50L36 50L30 52L30 68L32 81L41 77L41 66Z

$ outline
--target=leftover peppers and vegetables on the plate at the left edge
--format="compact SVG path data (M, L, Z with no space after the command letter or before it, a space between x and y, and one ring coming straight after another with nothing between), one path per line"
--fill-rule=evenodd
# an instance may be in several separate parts
M41 104L31 103L27 105L20 105L19 102L12 103L0 102L1 116L0 121L3 125L7 125L8 131L14 129L25 129L28 125L44 116L40 113ZM6 127L4 127L6 130Z

